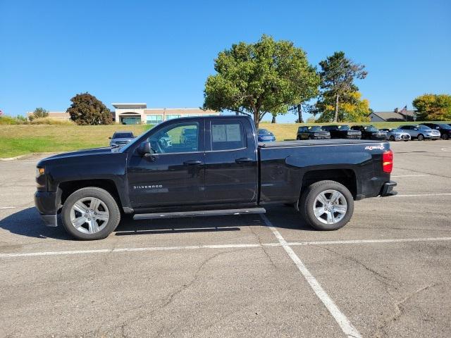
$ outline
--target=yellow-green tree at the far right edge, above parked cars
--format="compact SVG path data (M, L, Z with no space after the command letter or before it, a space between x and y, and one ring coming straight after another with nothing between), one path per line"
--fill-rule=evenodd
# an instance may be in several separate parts
M422 121L450 121L451 95L424 94L416 97L412 102L417 114L417 120Z

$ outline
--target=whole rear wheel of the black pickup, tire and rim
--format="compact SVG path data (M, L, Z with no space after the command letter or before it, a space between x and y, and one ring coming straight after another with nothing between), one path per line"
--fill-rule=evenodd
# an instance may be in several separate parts
M302 193L299 211L316 230L338 230L354 212L354 199L343 184L324 180L311 184Z

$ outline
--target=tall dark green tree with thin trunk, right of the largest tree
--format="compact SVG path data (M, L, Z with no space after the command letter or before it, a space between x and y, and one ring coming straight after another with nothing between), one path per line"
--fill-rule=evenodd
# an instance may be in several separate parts
M368 73L364 70L364 65L353 63L345 57L345 53L342 51L335 51L332 56L328 56L319 65L321 66L319 73L321 96L323 96L323 101L329 101L330 97L334 99L333 122L338 122L340 98L357 92L359 88L354 84L354 79L364 79Z

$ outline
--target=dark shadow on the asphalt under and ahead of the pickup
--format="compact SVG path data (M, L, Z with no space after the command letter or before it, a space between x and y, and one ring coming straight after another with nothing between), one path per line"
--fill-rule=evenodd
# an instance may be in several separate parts
M275 227L315 231L302 221L293 208L271 206L268 208L266 216ZM233 232L240 231L242 227L249 225L265 226L259 215L170 218L166 220L132 220L130 216L125 216L112 235ZM46 227L39 219L36 208L26 208L6 216L0 220L0 228L25 237L72 240L61 224L61 217L58 217L58 227Z

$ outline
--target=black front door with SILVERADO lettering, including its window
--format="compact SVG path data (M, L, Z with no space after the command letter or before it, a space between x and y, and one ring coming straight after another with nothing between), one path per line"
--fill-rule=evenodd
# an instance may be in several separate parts
M204 201L204 122L160 128L147 139L152 156L135 151L128 163L133 208L195 205Z

